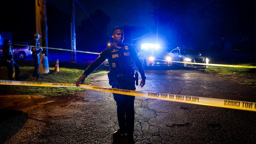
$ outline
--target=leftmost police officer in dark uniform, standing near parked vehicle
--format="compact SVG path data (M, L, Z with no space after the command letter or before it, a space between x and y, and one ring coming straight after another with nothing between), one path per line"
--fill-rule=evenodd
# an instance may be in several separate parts
M13 48L11 47L11 41L6 39L4 40L4 44L2 46L3 56L5 59L8 78L9 80L13 80L13 72L15 72L15 80L19 80L20 77L20 68L14 61ZM13 71L13 68L15 71Z

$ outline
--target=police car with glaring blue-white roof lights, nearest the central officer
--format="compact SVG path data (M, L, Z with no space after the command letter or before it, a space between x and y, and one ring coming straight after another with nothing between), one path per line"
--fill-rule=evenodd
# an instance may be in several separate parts
M139 59L144 67L147 66L172 66L171 56L160 48L158 44L141 44L141 51L138 52Z

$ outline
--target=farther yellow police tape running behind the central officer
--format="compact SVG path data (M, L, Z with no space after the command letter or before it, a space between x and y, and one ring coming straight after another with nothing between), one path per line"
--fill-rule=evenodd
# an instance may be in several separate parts
M13 45L27 46L27 45L21 45L21 44L13 44ZM100 54L100 53L96 53L96 52L69 50L69 49L52 48L52 47L42 47L42 46L30 46L30 47L41 47L41 48L47 48L47 49L57 49L57 50L64 50L64 51L82 52L82 53L90 53L90 54ZM159 59L155 59L155 60L159 60ZM159 61L167 61L168 62L168 60L159 60ZM222 67L256 68L256 66L245 66L245 65L206 64L206 63L193 63L193 62L180 62L180 61L169 61L169 62L196 64L196 65L222 66Z

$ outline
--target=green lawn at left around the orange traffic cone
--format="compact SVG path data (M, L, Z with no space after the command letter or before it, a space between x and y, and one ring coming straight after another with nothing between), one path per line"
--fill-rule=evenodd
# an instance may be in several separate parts
M20 79L22 79L22 81L36 81L36 78L31 76L33 69L34 67L21 66ZM84 70L69 68L60 68L59 72L55 72L54 67L50 67L49 69L50 72L48 74L41 75L42 80L40 80L40 82L74 84L84 72ZM105 73L105 71L95 71L88 78L86 78L84 84L89 84L93 81L97 81L97 79L94 79L93 77L104 75ZM0 79L8 80L6 67L0 67ZM72 87L37 87L12 85L0 86L1 95L42 95L43 97L69 97L71 95L74 95L76 92L83 90L85 89Z

